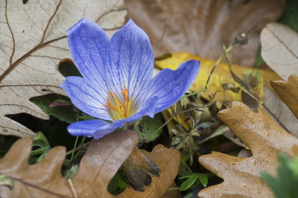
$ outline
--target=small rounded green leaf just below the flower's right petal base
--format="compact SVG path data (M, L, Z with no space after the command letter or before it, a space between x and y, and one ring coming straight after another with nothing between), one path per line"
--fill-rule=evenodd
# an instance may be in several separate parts
M135 131L139 134L140 139L144 139L145 137L148 137L150 134L155 132L161 125L164 123L162 119L162 115L160 113L155 114L154 118L147 118L139 122L139 124L136 126ZM153 142L160 136L160 134L163 132L163 129L159 129L157 132L155 132L152 136L150 136L146 142Z

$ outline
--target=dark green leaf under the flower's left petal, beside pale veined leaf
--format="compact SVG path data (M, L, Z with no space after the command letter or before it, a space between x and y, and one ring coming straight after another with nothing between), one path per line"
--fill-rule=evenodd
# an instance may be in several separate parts
M76 122L76 115L73 110L73 106L56 106L49 107L49 105L57 99L66 99L64 96L49 94L45 96L35 97L30 99L35 105L41 108L46 114L53 115L59 120L65 121L67 123Z

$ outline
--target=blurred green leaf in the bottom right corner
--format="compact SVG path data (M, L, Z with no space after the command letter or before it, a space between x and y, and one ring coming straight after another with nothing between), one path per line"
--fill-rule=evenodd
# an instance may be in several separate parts
M298 198L298 158L291 159L285 153L279 155L278 177L260 172L277 198Z

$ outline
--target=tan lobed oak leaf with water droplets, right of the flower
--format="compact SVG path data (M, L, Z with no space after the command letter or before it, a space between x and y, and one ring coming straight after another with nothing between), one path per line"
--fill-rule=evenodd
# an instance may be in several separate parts
M278 154L291 157L298 154L298 139L279 125L262 109L253 112L245 104L234 101L230 109L218 113L218 117L248 148L252 156L234 157L220 152L199 157L199 162L224 182L199 192L200 198L274 197L270 188L259 176L259 171L276 175Z

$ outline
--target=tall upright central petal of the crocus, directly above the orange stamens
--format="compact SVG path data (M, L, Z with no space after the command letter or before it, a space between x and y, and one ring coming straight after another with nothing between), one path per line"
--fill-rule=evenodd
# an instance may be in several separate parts
M119 93L126 85L129 97L136 98L140 85L149 82L153 72L154 56L147 34L130 19L111 38L108 55L110 89Z

